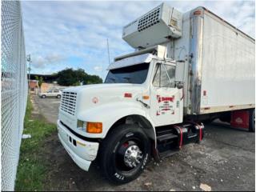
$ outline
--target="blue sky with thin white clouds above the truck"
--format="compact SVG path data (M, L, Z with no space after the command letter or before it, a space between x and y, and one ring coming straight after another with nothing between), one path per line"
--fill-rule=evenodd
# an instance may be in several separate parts
M23 1L26 54L32 74L52 74L66 67L106 77L114 58L133 52L122 40L122 27L162 1ZM185 13L205 6L233 26L255 38L254 1L168 1Z

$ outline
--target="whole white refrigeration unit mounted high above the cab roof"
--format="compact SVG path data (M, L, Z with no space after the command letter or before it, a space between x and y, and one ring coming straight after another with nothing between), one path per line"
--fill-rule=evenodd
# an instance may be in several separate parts
M135 49L156 46L182 36L182 13L162 3L123 27L122 38Z

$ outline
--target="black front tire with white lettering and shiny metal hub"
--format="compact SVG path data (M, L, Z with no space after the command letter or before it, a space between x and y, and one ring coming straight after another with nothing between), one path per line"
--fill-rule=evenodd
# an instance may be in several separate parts
M138 178L149 158L150 139L139 126L126 124L110 130L102 142L99 161L105 177L122 184Z

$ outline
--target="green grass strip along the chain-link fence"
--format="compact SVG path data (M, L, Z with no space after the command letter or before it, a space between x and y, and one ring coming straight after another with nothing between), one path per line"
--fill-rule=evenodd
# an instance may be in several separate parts
M28 98L23 134L31 134L31 138L22 139L15 190L43 190L49 167L40 154L46 138L56 131L56 125L34 116L32 110Z

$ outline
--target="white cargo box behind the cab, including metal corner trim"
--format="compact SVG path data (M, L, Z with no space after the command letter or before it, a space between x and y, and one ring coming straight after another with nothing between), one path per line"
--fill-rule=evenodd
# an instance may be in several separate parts
M189 61L185 113L254 107L254 39L203 7L183 17L182 38L169 44L170 57Z

